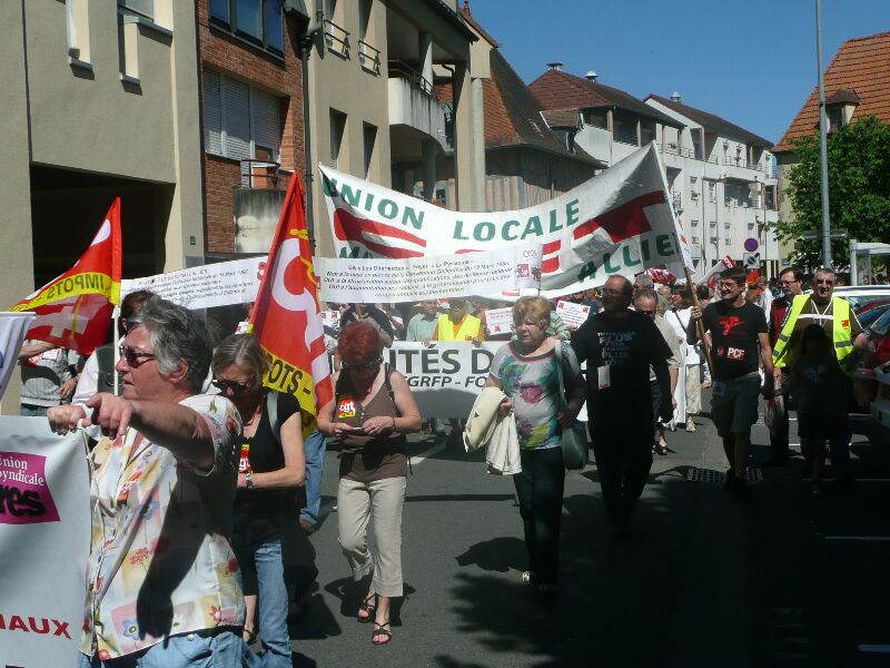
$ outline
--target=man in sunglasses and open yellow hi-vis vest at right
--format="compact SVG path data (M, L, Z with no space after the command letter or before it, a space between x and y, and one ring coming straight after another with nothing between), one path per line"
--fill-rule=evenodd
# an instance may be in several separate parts
M783 273L782 276L782 281L788 279L788 274ZM853 353L861 353L864 350L867 337L862 333L862 325L850 308L850 303L834 296L837 283L838 275L832 269L823 267L813 277L811 294L795 294L791 297L791 307L782 322L773 350L775 380L780 387L788 386L790 370L800 354L803 331L808 325L817 324L825 331L833 342L838 364L848 375L858 358L858 354ZM835 401L847 403L851 395L852 382L849 384L848 394L837 397ZM849 449L846 446L842 451L840 448L835 449L838 452L831 453L831 462L837 469L837 478L842 483L852 482L849 471Z

